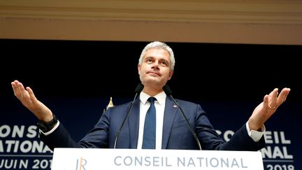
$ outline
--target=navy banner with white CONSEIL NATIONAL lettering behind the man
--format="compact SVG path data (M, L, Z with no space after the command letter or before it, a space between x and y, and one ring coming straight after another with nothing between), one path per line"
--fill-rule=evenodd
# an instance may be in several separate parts
M109 98L42 97L57 118L79 141L99 120ZM0 169L50 169L52 152L38 139L36 118L13 94L1 98ZM131 98L113 97L113 104ZM201 104L217 132L227 141L249 118L259 101L195 101ZM261 150L266 170L301 169L299 144L301 104L287 102L266 123L266 148ZM300 130L299 130L300 129Z

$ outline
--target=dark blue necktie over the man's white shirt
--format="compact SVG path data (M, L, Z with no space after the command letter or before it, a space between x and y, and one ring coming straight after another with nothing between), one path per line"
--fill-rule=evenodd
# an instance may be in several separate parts
M156 139L156 110L154 106L154 97L150 97L150 108L145 117L145 125L143 132L143 149L155 149Z

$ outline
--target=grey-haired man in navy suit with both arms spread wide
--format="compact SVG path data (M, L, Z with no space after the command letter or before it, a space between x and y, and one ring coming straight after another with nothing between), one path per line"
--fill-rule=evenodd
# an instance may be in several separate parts
M138 74L143 91L134 101L131 113L120 133L116 148L144 148L144 121L148 109L156 111L155 149L199 149L192 132L182 118L180 108L171 97L167 97L163 87L173 76L175 59L173 50L165 43L154 41L146 45L138 61ZM40 121L41 140L54 149L56 147L75 148L114 148L115 136L129 111L131 102L109 108L101 115L99 122L79 142L69 136L61 122L52 111L34 96L30 87L26 89L19 81L12 82L17 99L26 106ZM284 88L278 95L278 89L264 96L264 101L257 106L249 120L233 134L228 142L215 132L206 113L199 104L177 100L186 114L189 125L193 127L203 150L260 150L265 146L264 122L275 113L286 100L290 89ZM148 101L154 97L153 101Z

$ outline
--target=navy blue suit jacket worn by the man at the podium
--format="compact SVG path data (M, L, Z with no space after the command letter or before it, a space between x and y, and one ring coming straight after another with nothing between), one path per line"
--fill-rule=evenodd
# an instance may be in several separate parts
M233 134L227 143L215 132L206 113L199 104L189 101L177 100L186 114L189 124L196 132L203 150L260 150L265 146L264 137L259 142L254 142L247 134L243 125ZM79 142L71 139L62 122L54 132L45 136L41 134L41 140L50 148L113 148L115 135L124 119L131 103L109 108L101 115L99 122ZM140 101L136 99L129 118L122 128L116 148L137 148L138 124L140 113ZM175 107L173 101L166 97L164 111L164 127L162 134L162 149L187 149L196 150L198 146L180 109Z

